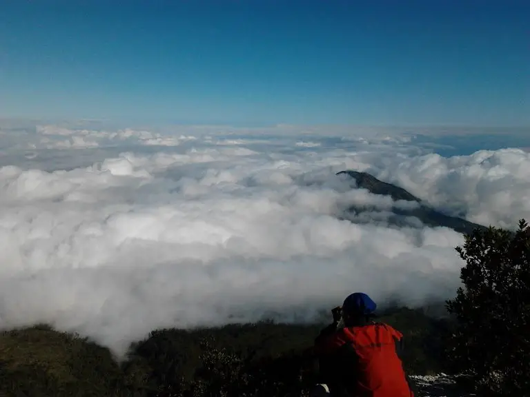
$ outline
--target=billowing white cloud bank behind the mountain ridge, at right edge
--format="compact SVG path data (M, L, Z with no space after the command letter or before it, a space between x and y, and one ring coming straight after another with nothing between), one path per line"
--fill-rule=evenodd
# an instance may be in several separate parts
M520 149L480 150L445 158L426 154L406 161L375 161L376 177L469 221L515 228L530 220L530 153Z

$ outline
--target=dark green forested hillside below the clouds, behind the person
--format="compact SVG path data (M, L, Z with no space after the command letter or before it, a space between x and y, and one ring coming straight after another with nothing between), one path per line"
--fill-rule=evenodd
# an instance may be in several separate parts
M406 308L388 309L379 320L404 332L409 371L447 371L448 320ZM161 329L120 364L108 349L50 327L4 332L0 396L302 396L315 379L308 348L324 325Z

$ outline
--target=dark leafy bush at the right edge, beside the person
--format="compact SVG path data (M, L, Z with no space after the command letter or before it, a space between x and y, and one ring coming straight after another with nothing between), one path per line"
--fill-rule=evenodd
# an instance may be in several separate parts
M447 302L458 320L453 363L484 393L530 396L530 227L476 230L456 250L466 265Z

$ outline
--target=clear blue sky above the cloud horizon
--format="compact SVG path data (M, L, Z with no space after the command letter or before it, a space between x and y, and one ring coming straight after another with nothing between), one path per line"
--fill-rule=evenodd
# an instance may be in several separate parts
M530 125L530 4L3 0L0 117Z

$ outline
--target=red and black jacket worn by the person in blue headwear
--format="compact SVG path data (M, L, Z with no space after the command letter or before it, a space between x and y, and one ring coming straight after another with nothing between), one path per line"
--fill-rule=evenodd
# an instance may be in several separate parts
M337 329L321 334L315 353L324 364L324 376L337 395L355 397L413 397L414 393L397 356L403 335L386 324ZM340 385L337 387L337 385ZM333 390L332 394L333 394Z

